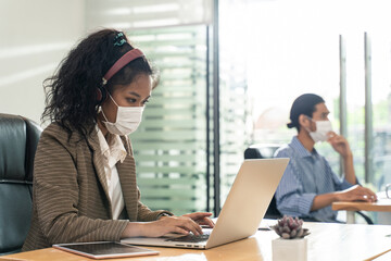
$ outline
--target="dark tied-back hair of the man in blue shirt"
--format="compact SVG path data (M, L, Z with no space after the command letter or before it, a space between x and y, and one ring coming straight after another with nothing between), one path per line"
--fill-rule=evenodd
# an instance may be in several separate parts
M288 123L287 126L289 128L295 127L299 132L300 130L299 116L301 114L304 114L312 117L313 113L316 111L315 107L323 102L325 102L325 100L320 96L314 94L304 94L302 96L299 96L293 101L289 116L291 122Z

